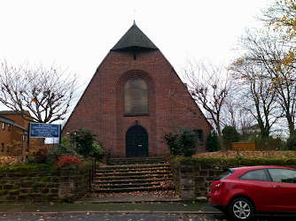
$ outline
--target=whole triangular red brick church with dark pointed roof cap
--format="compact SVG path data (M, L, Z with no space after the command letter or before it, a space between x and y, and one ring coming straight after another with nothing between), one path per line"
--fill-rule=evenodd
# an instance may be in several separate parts
M185 126L197 132L198 152L205 151L211 126L173 66L134 22L97 67L63 134L89 128L111 157L154 157L168 152L165 134Z

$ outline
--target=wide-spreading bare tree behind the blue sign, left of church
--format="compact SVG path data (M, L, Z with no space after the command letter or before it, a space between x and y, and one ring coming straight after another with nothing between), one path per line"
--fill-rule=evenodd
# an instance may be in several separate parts
M64 119L78 87L76 75L42 65L0 69L0 102L23 118L39 123Z

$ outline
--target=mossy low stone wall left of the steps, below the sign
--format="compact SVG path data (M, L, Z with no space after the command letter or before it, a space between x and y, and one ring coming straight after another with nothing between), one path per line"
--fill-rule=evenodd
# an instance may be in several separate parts
M86 167L0 166L0 202L74 202L88 191L89 176Z

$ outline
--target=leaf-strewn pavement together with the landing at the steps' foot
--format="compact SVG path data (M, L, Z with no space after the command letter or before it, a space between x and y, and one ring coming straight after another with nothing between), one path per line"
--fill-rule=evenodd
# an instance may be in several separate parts
M221 213L207 202L181 202L175 191L87 194L74 203L0 203L0 214L26 212Z

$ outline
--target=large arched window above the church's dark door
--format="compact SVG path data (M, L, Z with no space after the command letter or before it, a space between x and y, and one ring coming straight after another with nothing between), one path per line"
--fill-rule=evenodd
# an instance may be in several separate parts
M147 115L148 87L141 78L131 78L124 85L124 114Z

